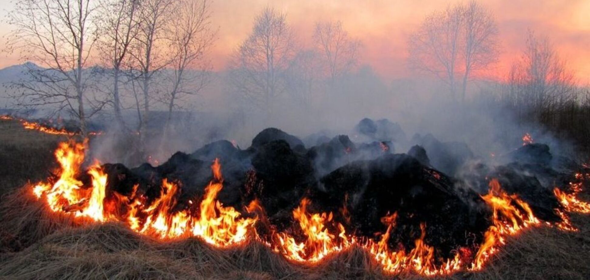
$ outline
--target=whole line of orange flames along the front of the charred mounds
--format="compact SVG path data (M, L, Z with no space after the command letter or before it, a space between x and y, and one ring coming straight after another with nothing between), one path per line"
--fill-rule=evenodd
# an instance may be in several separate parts
M133 186L129 195L112 192L113 195L107 196L108 176L99 163L87 169L90 183L85 185L76 179L81 175L80 170L83 170L82 143L61 143L55 151L55 157L61 166L57 179L32 187L32 193L46 202L48 209L53 212L73 215L80 218L81 222L119 222L138 234L163 241L194 236L213 246L227 247L252 237L263 241L285 258L299 263L317 263L333 253L358 246L368 252L384 272L390 274L414 272L418 275L448 275L461 270L476 271L484 267L509 236L531 226L542 225L526 202L517 195L506 193L498 180L492 179L489 193L481 196L493 211L491 226L483 234L483 241L474 254L470 248L457 248L451 258L436 258L435 248L425 241L425 223L420 224L420 235L414 242L414 248L409 251L389 248L388 242L398 219L397 212L381 219L386 230L378 240L357 238L346 232L332 212L310 212L312 202L307 198L302 199L299 207L293 210L293 218L299 226L296 232L300 234L272 232L269 241L264 241L254 228L259 219L267 221L264 209L257 200L247 207L248 213L255 214L254 218L244 218L238 210L222 205L217 199L224 183L218 159L212 163L213 177L200 203L191 199L187 205L181 205L178 197L182 193L182 186L168 179L163 179L159 196L152 200L143 195L139 185ZM581 183L572 183L572 189L574 192L569 195L555 189L555 195L567 211L588 213L588 203L576 198ZM557 212L563 219L557 226L560 229L573 228L567 215L559 210Z

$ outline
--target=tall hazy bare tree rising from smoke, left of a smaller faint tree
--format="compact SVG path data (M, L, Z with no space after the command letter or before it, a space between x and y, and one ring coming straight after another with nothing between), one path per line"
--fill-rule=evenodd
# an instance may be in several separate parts
M266 8L230 64L230 81L248 103L270 114L284 92L284 72L294 56L294 37L286 15Z

